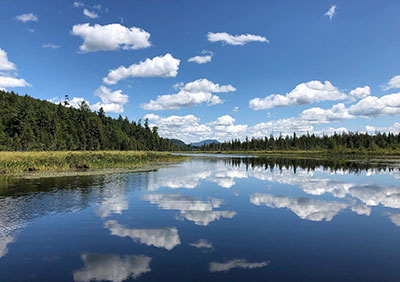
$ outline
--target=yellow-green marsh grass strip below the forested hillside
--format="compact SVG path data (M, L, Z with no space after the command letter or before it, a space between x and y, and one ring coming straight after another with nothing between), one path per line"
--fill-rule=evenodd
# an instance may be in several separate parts
M0 152L0 174L20 176L56 171L138 169L184 159L167 152L150 151Z

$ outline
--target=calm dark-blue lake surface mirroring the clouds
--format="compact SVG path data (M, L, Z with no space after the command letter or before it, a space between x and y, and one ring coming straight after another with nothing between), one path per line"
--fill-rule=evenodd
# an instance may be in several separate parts
M0 281L400 281L387 164L194 158L0 188Z

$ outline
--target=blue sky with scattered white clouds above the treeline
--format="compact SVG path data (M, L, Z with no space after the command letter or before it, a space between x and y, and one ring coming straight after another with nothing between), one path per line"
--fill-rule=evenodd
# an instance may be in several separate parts
M185 142L398 132L399 15L390 0L3 0L0 88Z

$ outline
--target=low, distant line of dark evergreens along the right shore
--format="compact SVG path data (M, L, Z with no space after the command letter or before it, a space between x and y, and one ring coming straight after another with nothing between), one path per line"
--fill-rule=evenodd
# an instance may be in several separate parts
M365 150L400 149L400 133L380 133L374 135L359 132L335 133L331 136L306 134L264 138L246 137L244 141L234 139L224 143L212 143L198 148L201 151L310 151L310 150Z

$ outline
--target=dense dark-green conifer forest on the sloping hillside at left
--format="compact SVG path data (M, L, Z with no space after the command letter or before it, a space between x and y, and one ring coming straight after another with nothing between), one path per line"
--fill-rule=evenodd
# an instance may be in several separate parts
M148 121L114 119L90 110L0 91L0 150L173 150Z

